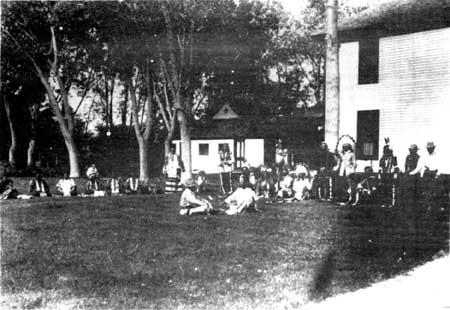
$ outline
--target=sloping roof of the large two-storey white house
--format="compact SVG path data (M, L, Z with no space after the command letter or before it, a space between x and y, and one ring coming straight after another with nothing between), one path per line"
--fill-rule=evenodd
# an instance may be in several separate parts
M450 0L395 0L370 7L338 23L340 40L358 34L402 34L450 26ZM321 36L322 29L313 34Z

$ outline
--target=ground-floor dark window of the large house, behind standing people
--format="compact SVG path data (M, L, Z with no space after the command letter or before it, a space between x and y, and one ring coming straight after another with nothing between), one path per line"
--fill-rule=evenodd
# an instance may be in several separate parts
M362 160L378 159L378 136L380 111L358 111L356 132L356 158Z

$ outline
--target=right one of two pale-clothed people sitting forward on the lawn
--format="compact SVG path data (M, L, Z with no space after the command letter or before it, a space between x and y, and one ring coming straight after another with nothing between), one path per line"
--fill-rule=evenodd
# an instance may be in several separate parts
M228 208L225 210L225 213L228 215L234 215L252 209L260 212L261 210L258 209L258 201L260 198L262 197L256 195L256 193L252 190L252 185L242 174L239 177L238 188L224 201L224 204Z

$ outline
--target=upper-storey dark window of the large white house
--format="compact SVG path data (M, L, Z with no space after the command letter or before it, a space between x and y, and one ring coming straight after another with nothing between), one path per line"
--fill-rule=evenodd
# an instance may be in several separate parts
M359 41L358 84L378 83L379 40Z

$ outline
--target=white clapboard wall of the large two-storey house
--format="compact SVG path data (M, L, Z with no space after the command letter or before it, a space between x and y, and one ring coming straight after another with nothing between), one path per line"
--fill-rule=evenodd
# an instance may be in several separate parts
M377 84L358 85L358 48L358 42L340 47L339 134L356 139L357 111L378 109L380 157L389 137L403 169L410 144L420 155L434 141L440 171L450 173L450 28L380 38ZM370 164L359 161L358 171Z

